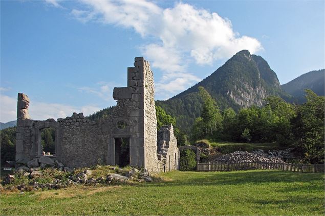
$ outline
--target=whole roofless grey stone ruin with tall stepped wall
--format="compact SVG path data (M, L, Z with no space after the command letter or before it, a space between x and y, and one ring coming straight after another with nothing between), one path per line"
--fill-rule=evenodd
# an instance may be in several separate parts
M90 121L83 113L57 121L33 120L28 114L29 98L18 93L16 163L36 166L56 161L71 168L129 164L149 173L177 170L174 129L165 126L157 134L154 94L153 71L143 57L127 68L127 87L114 88L117 105L112 114L98 121ZM50 155L42 151L44 128L55 129L55 152Z

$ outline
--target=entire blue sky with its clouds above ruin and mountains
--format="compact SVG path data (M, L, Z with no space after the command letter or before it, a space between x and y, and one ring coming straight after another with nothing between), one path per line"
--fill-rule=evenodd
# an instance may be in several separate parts
M287 83L324 68L324 11L324 1L1 1L0 121L16 118L17 92L33 119L115 105L137 56L158 100L243 49Z

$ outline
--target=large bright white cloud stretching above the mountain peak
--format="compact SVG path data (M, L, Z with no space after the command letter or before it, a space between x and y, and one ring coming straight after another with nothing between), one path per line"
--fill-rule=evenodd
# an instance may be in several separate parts
M177 3L163 9L148 1L82 0L81 3L86 10L71 12L78 20L132 28L152 41L141 46L143 55L164 74L179 76L172 80L166 79L170 76L163 76L156 85L157 90L162 84L175 91L184 90L180 86L185 88L186 83L197 81L194 75L187 76L188 62L211 65L244 49L252 54L263 49L257 39L235 32L229 19L189 4ZM180 82L179 86L176 81Z

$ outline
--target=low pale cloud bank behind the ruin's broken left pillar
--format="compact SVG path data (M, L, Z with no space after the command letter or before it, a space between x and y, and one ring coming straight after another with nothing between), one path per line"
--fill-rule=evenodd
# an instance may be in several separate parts
M0 94L0 102L0 121L6 123L15 120L17 118L17 99ZM35 120L65 118L71 116L73 112L83 112L84 116L86 116L102 109L95 105L78 107L37 101L32 101L29 105L29 114L31 118Z

